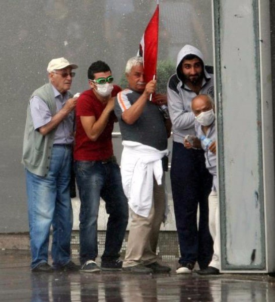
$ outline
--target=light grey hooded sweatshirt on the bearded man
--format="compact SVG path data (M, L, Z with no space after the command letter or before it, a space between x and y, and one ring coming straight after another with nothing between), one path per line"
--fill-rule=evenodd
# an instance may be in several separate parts
M182 59L188 54L196 55L203 62L204 78L199 94L209 94L214 98L214 77L205 68L202 53L194 46L185 45L177 56L176 73L172 75L167 85L168 109L173 125L173 140L182 144L185 135L195 135L195 118L191 110L191 101L196 93L182 82L180 72Z

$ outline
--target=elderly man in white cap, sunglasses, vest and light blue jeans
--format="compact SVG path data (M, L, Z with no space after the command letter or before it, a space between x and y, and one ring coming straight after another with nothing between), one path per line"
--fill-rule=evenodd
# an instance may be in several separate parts
M22 163L26 172L33 272L75 271L71 261L73 225L70 171L77 98L69 92L78 65L65 58L49 62L49 83L28 103ZM51 257L48 264L49 233Z

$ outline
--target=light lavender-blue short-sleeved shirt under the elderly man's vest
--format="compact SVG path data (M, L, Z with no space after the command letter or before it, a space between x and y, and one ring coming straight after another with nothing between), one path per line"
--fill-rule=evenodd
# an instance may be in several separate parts
M66 103L66 101L70 98L68 93L66 92L64 96L60 94L60 92L51 85L54 98L56 102L56 108L58 112ZM34 124L34 129L46 125L52 119L52 115L46 103L41 100L38 96L34 96L30 100L30 109L31 116ZM73 143L74 141L74 118L75 112L71 111L70 114L64 118L60 124L57 126L53 143Z

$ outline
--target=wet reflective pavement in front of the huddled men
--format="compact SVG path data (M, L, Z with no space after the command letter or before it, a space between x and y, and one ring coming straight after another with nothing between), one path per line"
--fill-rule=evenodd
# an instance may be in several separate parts
M74 260L76 263L77 259ZM0 301L275 301L265 274L32 273L28 251L0 251Z

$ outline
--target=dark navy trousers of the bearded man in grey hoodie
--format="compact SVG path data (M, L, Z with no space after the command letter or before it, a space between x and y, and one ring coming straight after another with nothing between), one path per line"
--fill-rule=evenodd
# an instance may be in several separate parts
M200 269L206 268L213 255L208 223L212 176L205 168L203 150L186 149L182 143L173 142L171 186L181 254L179 263L197 261Z

